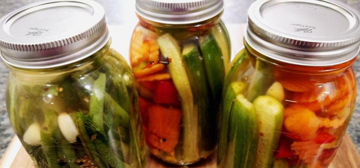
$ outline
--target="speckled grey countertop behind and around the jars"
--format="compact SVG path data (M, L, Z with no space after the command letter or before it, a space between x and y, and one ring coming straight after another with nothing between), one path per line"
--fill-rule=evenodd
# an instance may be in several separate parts
M0 0L0 17L5 14L22 7L31 2L35 2L39 0ZM121 25L121 26L112 26L111 31L116 31L117 28L126 27L122 30L118 31L129 31L126 37L129 38L132 32L133 27L136 24L135 17L135 0L96 0L100 2L106 10L107 19L110 25ZM248 6L254 0L224 0L225 1L225 10L223 15L223 21L225 22L228 28L236 31L236 28L246 23L246 14ZM360 10L360 0L341 0L346 2L353 7ZM242 32L240 33L242 34ZM231 36L231 34L230 34ZM231 39L234 39L231 37ZM241 38L235 38L241 39ZM234 42L239 43L239 42ZM114 44L114 43L113 43ZM232 53L236 53L240 48L233 48ZM119 49L126 51L127 47L123 46ZM124 57L128 57L128 52L121 52ZM358 93L360 93L360 57L353 65L357 85L358 85ZM5 103L5 90L6 90L6 78L8 76L8 70L6 66L0 61L0 158L14 136L14 131L10 125L10 121L8 119L8 115L6 112L6 103ZM359 95L359 94L358 94ZM357 96L357 103L355 107L355 111L353 117L349 123L347 128L347 132L353 140L354 144L357 146L358 151L360 151L360 96Z

